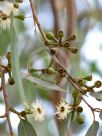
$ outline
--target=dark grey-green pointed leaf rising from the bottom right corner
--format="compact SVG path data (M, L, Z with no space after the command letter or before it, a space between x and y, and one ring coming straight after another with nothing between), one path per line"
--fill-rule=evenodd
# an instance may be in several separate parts
M98 128L99 128L99 122L94 121L90 126L90 128L88 129L85 136L97 136Z

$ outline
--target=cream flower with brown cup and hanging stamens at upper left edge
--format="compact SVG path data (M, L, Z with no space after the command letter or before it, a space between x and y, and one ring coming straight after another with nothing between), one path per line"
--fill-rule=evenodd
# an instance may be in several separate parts
M3 30L10 29L11 19L6 14L0 16L0 28Z

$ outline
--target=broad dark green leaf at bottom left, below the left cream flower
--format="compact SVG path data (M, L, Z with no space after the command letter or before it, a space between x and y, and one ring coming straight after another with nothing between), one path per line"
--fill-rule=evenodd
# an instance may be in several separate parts
M21 119L18 125L18 136L37 136L37 134L27 120Z

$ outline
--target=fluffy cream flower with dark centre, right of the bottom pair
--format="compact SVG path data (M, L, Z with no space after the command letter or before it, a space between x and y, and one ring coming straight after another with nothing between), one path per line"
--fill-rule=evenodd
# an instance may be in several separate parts
M67 115L71 112L71 106L64 100L61 99L56 106L56 115L58 119L65 119Z

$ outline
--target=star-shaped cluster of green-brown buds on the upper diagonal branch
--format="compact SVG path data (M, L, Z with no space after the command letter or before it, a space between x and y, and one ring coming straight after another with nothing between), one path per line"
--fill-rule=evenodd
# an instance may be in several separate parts
M70 42L76 39L75 35L71 35L66 40L63 40L64 33L63 31L59 31L57 35L58 38L56 38L52 32L48 32L46 37L48 40L45 41L45 46L49 47L52 55L55 55L59 48L65 48L71 53L77 53L77 49L70 46Z

